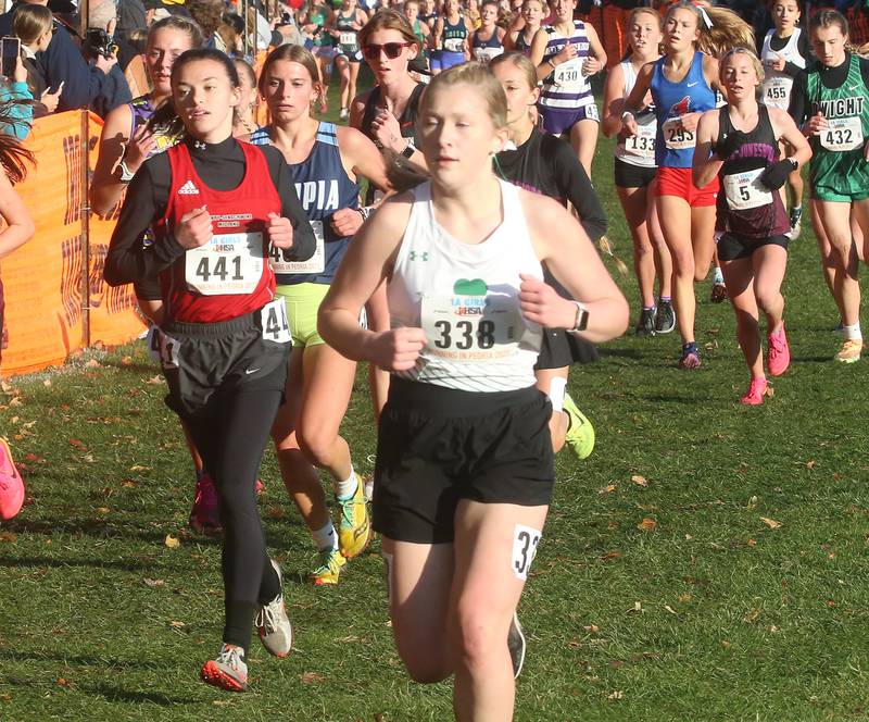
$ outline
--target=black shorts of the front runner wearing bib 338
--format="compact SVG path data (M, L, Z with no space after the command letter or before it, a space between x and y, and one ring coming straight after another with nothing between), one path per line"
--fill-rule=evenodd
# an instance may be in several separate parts
M374 527L450 544L462 499L546 506L555 481L545 394L479 394L392 376L380 414Z

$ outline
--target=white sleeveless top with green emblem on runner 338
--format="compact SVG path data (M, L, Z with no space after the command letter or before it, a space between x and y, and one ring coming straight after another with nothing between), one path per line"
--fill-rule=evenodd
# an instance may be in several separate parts
M431 184L414 188L407 229L387 286L392 328L421 327L427 346L402 378L463 391L534 384L541 328L519 311L519 273L543 278L519 189L504 180L504 217L481 244L463 244L434 219Z

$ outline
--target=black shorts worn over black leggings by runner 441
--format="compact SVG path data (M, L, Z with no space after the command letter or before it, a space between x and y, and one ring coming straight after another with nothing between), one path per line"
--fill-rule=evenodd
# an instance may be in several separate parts
M164 323L160 356L171 408L192 415L215 394L282 394L291 344L267 340L262 326L261 311L218 323Z

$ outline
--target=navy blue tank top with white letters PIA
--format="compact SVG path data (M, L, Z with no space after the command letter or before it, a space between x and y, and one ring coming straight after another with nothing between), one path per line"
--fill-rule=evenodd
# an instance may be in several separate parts
M250 142L254 146L269 144L268 129L257 128L251 134ZM333 123L320 122L314 147L307 158L301 163L288 163L295 192L302 202L302 208L318 236L323 237L323 254L319 249L314 254L312 262L322 258L322 271L282 273L276 269L279 285L288 284L330 284L338 270L338 264L344 257L347 247L352 236L338 236L331 226L331 217L342 208L356 209L360 206L360 183L351 180L341 163L341 152L338 150L338 135ZM310 263L310 262L305 262ZM308 266L310 267L310 266Z

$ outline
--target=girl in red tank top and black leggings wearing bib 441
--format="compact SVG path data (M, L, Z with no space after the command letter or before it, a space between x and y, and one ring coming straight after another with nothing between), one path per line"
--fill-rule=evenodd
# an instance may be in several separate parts
M232 61L213 49L188 50L173 66L172 91L186 140L136 174L104 275L111 286L160 278L161 357L173 407L214 478L224 526L224 644L201 675L242 690L254 618L270 653L284 657L292 644L254 494L290 340L266 259L278 248L302 261L314 235L280 153L232 138ZM143 246L149 228L154 240Z

